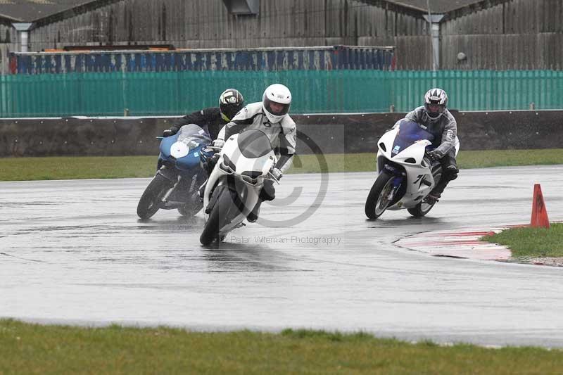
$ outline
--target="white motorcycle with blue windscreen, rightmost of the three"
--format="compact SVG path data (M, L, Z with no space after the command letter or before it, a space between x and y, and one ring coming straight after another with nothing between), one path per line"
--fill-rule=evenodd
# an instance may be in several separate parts
M365 202L365 215L377 219L385 210L406 208L410 215L426 215L436 202L424 198L434 189L442 176L439 162L432 163L427 150L434 135L416 122L401 120L388 130L377 146L378 176ZM455 154L460 142L455 139Z

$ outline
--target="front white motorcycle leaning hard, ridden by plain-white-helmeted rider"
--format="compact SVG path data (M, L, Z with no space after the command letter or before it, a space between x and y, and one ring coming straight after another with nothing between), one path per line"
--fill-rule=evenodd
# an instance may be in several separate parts
M203 193L205 227L202 245L222 241L243 221L256 203L265 179L277 179L271 170L277 162L270 139L258 129L230 136L211 172Z

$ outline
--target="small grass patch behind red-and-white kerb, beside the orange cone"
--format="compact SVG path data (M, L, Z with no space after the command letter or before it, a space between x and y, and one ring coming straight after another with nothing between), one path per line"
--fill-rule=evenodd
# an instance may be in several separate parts
M483 241L500 243L512 250L512 257L563 257L563 223L552 223L545 228L510 228Z

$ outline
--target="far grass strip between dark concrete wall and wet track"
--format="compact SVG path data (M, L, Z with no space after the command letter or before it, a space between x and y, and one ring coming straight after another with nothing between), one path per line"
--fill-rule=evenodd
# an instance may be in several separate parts
M545 150L462 151L458 164L464 168L514 165L560 164L563 148ZM322 158L298 155L289 173L317 173ZM374 153L327 154L329 172L375 170ZM111 179L151 177L156 168L153 156L0 158L0 181L34 179Z

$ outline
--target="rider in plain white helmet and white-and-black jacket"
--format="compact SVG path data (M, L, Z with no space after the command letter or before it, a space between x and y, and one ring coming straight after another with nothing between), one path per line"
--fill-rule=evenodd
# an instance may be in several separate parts
M264 132L274 148L279 149L279 160L272 174L280 179L286 170L291 167L296 148L297 128L295 122L289 117L291 107L291 92L283 84L272 84L265 89L262 101L250 103L223 127L213 145L222 147L224 139L232 134L243 132L245 129L259 129ZM258 210L262 201L272 201L275 198L275 189L272 181L265 180L260 191L260 200L248 215L249 222L258 220Z

